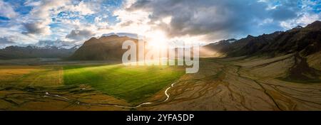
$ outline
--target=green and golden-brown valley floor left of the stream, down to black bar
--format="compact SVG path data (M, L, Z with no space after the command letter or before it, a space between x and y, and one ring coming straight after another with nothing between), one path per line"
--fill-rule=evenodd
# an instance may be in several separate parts
M2 65L0 109L128 110L184 73L169 66Z

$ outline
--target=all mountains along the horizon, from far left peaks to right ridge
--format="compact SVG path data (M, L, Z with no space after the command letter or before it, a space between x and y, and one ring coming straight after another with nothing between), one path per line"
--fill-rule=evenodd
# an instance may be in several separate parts
M138 41L133 33L108 33L100 38L86 40L80 48L46 46L9 46L0 50L0 59L11 58L68 58L69 60L121 60L126 50L121 49L125 40ZM276 31L260 36L247 36L239 40L220 40L204 45L200 55L205 57L265 56L276 57L299 53L303 57L320 52L321 21L289 31ZM205 49L205 50L202 50ZM211 53L215 52L215 53Z

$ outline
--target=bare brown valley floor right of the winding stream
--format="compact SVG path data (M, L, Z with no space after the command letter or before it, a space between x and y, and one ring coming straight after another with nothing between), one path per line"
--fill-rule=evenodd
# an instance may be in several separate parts
M320 110L320 82L285 82L293 55L258 60L204 59L198 75L185 75L170 98L142 110ZM318 76L320 77L320 75ZM161 95L158 95L161 97ZM160 99L156 96L155 98Z

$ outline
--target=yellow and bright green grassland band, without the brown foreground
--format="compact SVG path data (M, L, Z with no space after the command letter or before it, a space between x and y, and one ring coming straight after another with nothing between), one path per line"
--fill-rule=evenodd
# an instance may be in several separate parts
M131 104L138 104L185 73L173 66L2 65L0 86L56 87L90 85Z

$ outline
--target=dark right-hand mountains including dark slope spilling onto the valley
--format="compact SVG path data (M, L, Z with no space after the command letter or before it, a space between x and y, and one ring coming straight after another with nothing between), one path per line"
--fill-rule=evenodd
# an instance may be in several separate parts
M297 26L289 31L277 31L261 36L248 36L234 42L221 40L203 46L225 57L275 58L292 55L292 63L282 80L320 81L321 75L321 21L315 21L306 27ZM206 52L206 51L204 51ZM201 54L202 55L202 54ZM206 55L206 53L203 55Z

